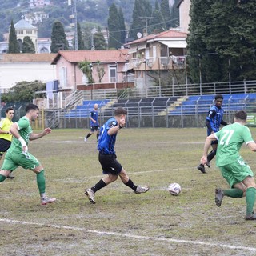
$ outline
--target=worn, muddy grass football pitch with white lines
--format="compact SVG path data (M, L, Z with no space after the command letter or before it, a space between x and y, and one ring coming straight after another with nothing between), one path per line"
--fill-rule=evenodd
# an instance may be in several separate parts
M251 129L256 138L256 129ZM96 204L84 190L102 178L96 138L88 130L53 130L30 142L46 170L46 192L57 202L42 206L35 174L18 168L0 184L0 255L256 255L256 222L246 222L245 198L224 198L215 161L207 174L196 168L205 129L123 129L118 161L146 194L134 194L121 180L99 190ZM255 154L242 156L256 170ZM178 182L182 193L167 191Z

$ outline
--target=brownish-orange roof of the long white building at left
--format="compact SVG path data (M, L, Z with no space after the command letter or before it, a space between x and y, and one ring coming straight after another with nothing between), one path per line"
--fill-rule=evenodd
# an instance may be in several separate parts
M56 54L1 54L0 62L52 62Z

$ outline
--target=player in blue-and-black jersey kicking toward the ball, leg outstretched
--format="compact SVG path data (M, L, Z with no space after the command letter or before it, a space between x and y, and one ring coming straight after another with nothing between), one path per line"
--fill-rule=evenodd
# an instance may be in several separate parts
M126 114L127 111L125 109L118 107L114 110L114 117L106 121L101 127L98 138L98 161L101 163L103 174L106 174L106 176L85 191L85 194L91 203L95 203L94 194L98 190L101 190L111 182L116 181L118 177L121 178L126 186L129 186L130 189L134 190L135 194L146 193L150 189L149 186L134 185L134 182L132 182L126 173L126 170L124 170L122 165L118 162L115 154L114 144L116 142L118 131L126 126Z

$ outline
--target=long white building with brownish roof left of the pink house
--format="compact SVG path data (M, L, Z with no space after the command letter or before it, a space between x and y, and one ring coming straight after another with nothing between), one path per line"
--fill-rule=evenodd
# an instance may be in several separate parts
M0 54L0 88L2 92L17 82L54 81L56 54Z

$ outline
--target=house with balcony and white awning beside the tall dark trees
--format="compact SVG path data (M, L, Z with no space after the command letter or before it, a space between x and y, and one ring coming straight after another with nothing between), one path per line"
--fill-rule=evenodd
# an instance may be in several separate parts
M126 43L130 56L126 70L134 72L138 88L153 84L156 80L160 83L161 73L166 73L167 70L186 69L186 35L168 30Z

